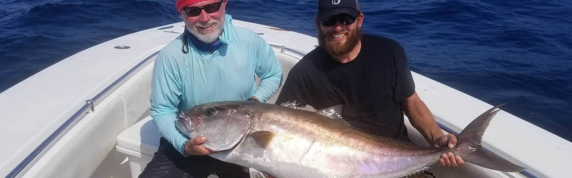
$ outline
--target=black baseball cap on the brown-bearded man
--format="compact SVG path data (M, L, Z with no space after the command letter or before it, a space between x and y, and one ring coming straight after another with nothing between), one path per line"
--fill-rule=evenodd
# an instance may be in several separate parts
M324 21L339 14L358 18L362 8L358 0L318 0L318 21Z

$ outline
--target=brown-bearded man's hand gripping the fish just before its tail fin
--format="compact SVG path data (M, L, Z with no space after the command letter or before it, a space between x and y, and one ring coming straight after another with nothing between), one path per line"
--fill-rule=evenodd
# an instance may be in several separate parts
M437 138L433 146L434 147L449 147L453 148L457 144L457 138L452 133L447 135L443 135L442 137ZM441 155L441 159L439 159L439 163L443 166L451 166L457 167L459 165L463 165L464 161L458 155L453 155L452 152L447 152Z

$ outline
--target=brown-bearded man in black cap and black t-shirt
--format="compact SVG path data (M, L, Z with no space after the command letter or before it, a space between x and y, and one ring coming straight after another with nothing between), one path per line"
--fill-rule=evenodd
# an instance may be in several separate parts
M408 140L403 114L435 147L454 147L415 92L403 47L392 39L362 35L364 15L357 0L318 1L319 47L289 72L277 104L297 100L316 110L343 104L343 118L375 135ZM451 152L446 166L463 164Z

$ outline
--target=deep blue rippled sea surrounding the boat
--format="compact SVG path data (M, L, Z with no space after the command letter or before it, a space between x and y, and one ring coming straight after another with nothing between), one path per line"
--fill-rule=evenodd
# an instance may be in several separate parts
M0 92L96 44L180 22L175 0L0 0ZM362 0L411 70L572 141L572 1ZM229 0L234 19L316 37L316 1Z

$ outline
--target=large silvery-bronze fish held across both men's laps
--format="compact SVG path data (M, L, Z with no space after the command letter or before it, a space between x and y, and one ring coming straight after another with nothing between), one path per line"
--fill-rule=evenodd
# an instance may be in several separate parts
M453 152L463 160L497 171L520 167L487 152L481 138L499 110L491 108L458 135L458 144L420 147L352 128L340 116L341 106L316 112L249 102L200 104L181 112L177 127L191 138L205 136L210 156L279 178L407 177Z

